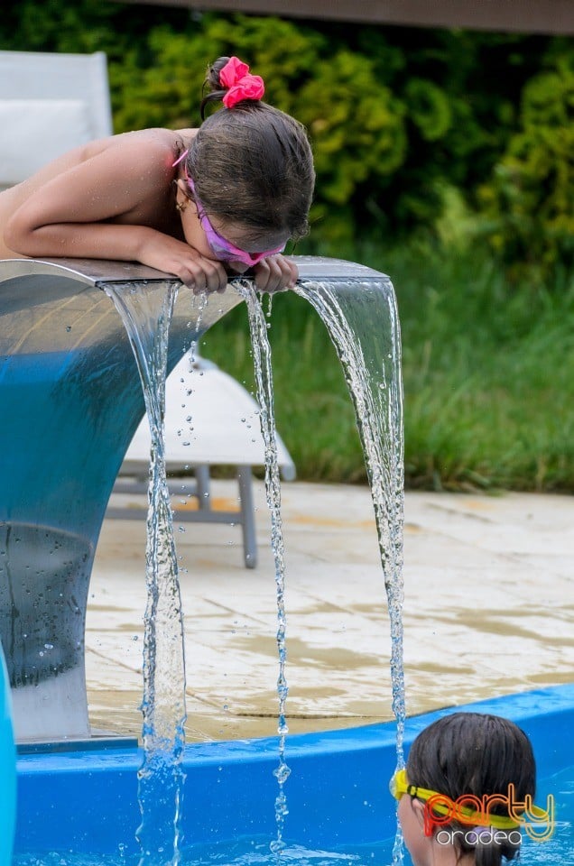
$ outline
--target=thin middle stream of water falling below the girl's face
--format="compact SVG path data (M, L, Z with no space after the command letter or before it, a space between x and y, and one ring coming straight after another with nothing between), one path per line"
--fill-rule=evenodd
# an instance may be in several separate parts
M242 281L236 288L245 298L249 317L249 330L255 368L255 384L257 401L260 407L261 432L264 439L265 453L265 492L267 506L271 513L271 546L275 565L275 587L277 593L277 650L279 656L279 673L277 677L277 695L279 711L277 732L279 733L279 763L273 771L277 778L279 791L275 798L276 838L271 843L271 851L276 861L281 860L285 849L283 829L285 817L289 814L284 785L291 769L285 761L285 738L289 732L285 705L289 694L289 686L285 675L287 661L285 613L285 556L281 517L281 482L279 478L279 463L277 457L277 441L275 438L275 419L273 413L273 373L271 367L271 346L267 336L268 323L261 308L255 289L251 282Z

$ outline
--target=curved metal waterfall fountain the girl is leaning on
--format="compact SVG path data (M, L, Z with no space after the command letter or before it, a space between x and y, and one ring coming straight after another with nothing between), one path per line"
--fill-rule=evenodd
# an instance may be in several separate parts
M302 258L300 269L303 282L378 285L393 295L386 278L361 265ZM144 415L130 341L106 290L144 285L163 297L173 283L126 263L0 263L0 639L19 741L90 737L89 577L107 500ZM241 301L231 291L210 297L198 332L186 295L173 309L168 372Z

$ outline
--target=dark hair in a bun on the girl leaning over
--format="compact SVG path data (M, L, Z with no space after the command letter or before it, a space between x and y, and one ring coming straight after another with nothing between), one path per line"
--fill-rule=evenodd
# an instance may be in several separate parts
M201 104L223 99L219 72L228 57L209 67ZM260 100L221 108L199 127L187 169L201 203L222 223L240 223L264 234L298 238L309 231L315 183L305 128L292 116Z

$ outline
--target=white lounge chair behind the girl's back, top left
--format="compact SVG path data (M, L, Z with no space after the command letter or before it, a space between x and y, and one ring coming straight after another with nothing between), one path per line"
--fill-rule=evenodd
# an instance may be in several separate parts
M106 54L0 51L0 189L112 134Z

